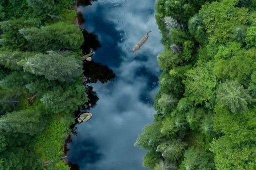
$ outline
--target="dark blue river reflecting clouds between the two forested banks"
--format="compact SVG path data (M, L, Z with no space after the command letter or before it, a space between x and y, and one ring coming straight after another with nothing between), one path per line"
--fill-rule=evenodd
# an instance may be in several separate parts
M92 98L99 99L90 108L93 118L76 125L68 144L69 161L88 170L145 169L146 151L134 143L155 113L160 74L156 56L163 50L154 18L155 0L93 0L91 5L82 1L87 5L79 6L85 43L96 44L93 62L84 64L85 75L97 93L92 92ZM149 30L153 32L148 41L133 54L133 46Z

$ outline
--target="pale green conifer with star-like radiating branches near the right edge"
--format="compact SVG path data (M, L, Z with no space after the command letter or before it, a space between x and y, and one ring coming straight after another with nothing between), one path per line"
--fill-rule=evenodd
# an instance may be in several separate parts
M232 113L237 113L246 110L252 98L237 81L227 81L219 85L217 101Z

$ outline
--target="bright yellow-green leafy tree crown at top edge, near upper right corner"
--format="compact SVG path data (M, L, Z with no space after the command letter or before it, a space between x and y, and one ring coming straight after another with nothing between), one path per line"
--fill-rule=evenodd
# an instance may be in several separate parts
M237 24L246 24L248 9L235 7L236 0L214 1L205 4L199 11L209 33L209 40L225 43ZM217 27L216 27L217 26Z

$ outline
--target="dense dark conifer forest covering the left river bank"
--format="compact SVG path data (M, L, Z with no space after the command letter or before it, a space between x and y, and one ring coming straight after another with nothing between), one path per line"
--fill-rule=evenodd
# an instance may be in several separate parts
M0 169L69 169L73 112L88 101L74 0L0 0Z

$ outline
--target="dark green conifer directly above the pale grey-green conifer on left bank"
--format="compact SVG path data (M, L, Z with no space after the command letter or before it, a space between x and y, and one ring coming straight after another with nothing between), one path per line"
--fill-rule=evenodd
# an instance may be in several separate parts
M53 51L80 51L83 35L74 24L57 22L41 28L30 27L20 29L19 32L30 42L33 50L46 52Z

